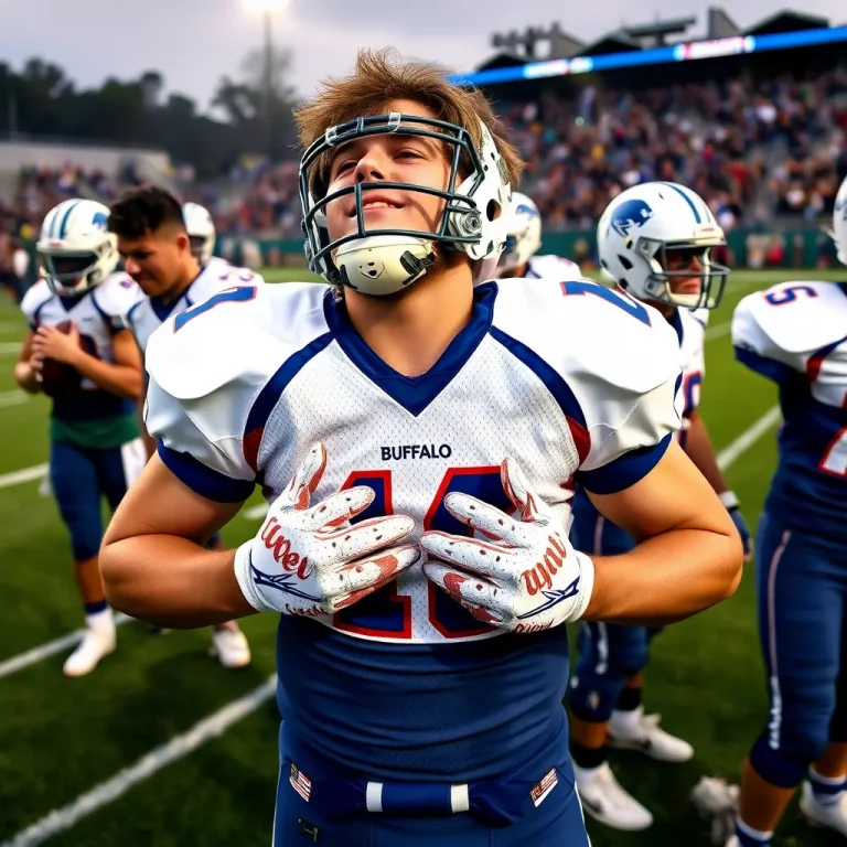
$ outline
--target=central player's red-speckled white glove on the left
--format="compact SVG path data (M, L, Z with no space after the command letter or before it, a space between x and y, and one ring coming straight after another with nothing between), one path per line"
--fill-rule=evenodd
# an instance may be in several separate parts
M421 558L415 545L390 546L412 530L410 517L389 515L350 525L374 500L366 485L331 494L310 508L325 467L326 449L313 444L256 537L236 550L238 586L260 612L332 614Z

